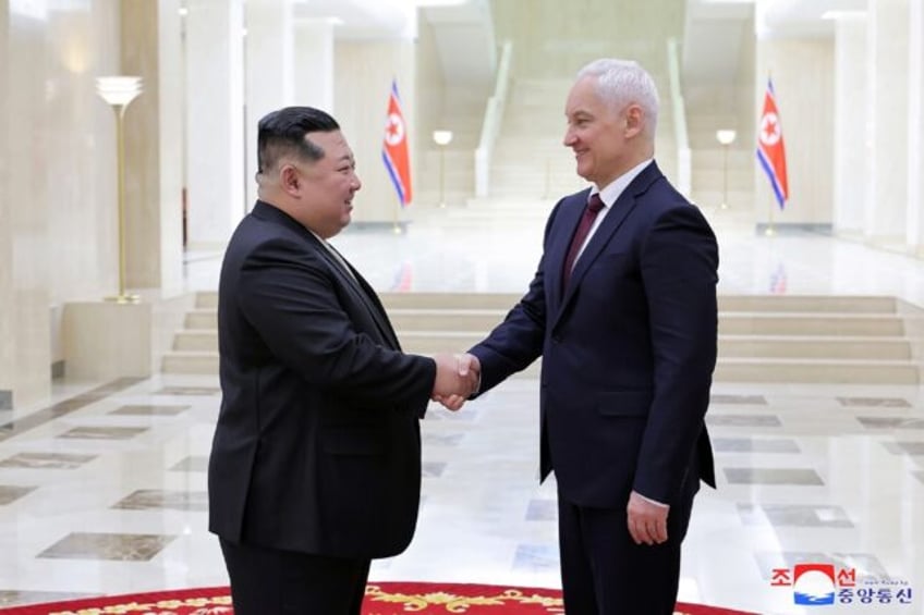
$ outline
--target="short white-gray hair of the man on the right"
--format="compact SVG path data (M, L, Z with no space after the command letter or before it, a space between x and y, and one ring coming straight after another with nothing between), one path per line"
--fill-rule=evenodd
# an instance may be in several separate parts
M579 79L587 76L596 77L597 94L616 108L639 104L647 119L647 130L654 137L658 125L658 88L645 69L632 60L601 58L578 71Z

